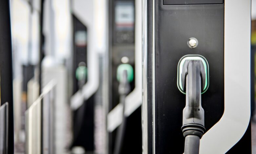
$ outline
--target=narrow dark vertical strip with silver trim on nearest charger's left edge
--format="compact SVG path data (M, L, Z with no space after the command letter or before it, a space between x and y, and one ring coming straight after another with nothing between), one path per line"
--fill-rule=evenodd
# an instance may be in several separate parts
M152 0L147 0L147 120L148 120L148 153L153 154L153 100L152 100L152 60L154 57L152 57L152 52L153 52L153 1Z

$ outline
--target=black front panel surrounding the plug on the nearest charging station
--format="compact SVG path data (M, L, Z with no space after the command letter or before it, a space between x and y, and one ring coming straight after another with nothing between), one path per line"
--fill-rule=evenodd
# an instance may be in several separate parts
M206 131L224 112L224 4L178 6L156 1L155 6L156 153L181 154L185 95L177 87L177 66L182 56L199 54L209 63L209 88L202 94ZM191 37L198 39L197 48L187 46Z

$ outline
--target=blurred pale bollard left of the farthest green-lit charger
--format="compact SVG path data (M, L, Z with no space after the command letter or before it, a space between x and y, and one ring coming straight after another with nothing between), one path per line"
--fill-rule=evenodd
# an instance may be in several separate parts
M47 59L46 59L47 60ZM67 153L66 147L72 140L71 133L71 110L68 104L68 74L64 66L54 65L46 67L46 61L42 65L42 85L49 84L50 81L56 81L56 93L53 104L54 113L54 152L56 154ZM43 89L44 91L44 89Z

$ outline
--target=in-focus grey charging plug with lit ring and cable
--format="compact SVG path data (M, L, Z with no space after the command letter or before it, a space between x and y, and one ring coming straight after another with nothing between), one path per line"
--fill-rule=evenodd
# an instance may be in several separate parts
M201 93L209 87L208 62L201 55L186 55L178 64L177 86L186 94L181 130L185 137L184 154L199 154L205 131Z

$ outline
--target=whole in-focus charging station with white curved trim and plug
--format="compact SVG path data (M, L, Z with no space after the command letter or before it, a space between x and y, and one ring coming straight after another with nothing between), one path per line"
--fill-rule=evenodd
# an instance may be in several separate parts
M251 153L250 10L143 1L143 153Z

